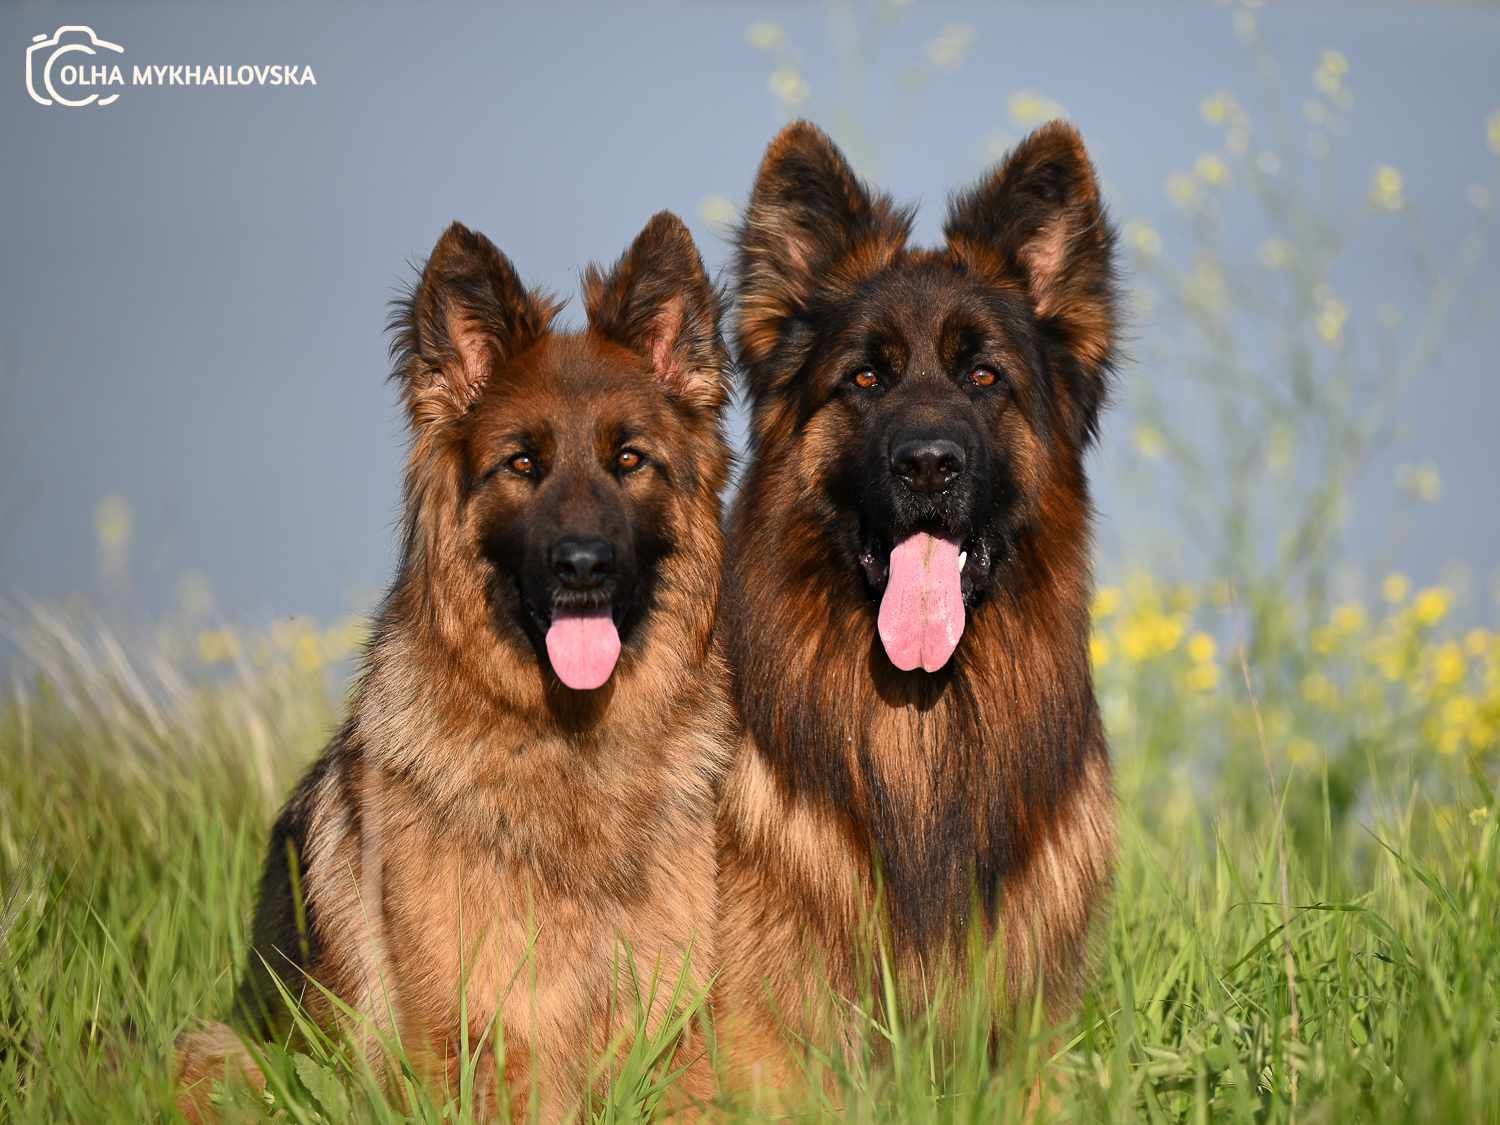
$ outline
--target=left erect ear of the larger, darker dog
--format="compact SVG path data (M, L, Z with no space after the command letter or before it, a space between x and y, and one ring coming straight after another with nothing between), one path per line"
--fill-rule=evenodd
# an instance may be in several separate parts
M910 213L872 194L831 140L808 122L786 126L760 160L740 226L740 358L753 364L819 292L882 268L910 232Z

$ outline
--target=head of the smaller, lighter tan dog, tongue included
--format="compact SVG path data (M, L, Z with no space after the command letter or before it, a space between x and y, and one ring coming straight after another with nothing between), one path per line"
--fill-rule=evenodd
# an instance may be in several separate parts
M728 456L718 296L682 222L656 216L584 292L586 332L555 332L558 303L454 224L394 324L422 512L408 567L576 692L642 644Z

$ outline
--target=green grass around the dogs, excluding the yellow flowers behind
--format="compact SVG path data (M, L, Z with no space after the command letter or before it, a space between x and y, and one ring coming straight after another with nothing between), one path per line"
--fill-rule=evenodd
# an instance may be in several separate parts
M194 686L40 632L45 675L0 710L0 1120L171 1118L172 1040L228 1002L267 826L338 700L291 662ZM1170 694L1152 706L1154 729L1180 729ZM810 1116L994 1120L1040 1082L1047 1120L1500 1120L1500 813L1482 772L1440 794L1368 752L1365 796L1335 814L1316 771L1274 789L1262 759L1194 771L1184 742L1197 789L1173 804L1160 753L1118 741L1124 856L1077 1018L1023 1012L998 1056L986 1012L957 1041L872 1022L860 1058L830 1062L837 1095L806 1094ZM1282 802L1312 826L1284 837ZM231 1108L468 1118L466 1086L390 1102L308 1030L267 1048L268 1098ZM650 1116L669 1048L638 1042L594 1116Z

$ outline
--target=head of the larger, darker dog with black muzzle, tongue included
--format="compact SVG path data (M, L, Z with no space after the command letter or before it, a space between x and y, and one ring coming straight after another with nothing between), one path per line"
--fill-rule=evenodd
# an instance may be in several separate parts
M796 123L738 237L738 346L758 460L794 474L898 669L946 664L1083 454L1116 327L1114 234L1071 126L954 198L938 250Z

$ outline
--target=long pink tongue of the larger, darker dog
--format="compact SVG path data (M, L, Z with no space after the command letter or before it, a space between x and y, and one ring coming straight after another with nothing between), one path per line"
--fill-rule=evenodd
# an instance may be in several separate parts
M880 598L880 642L903 672L936 672L963 636L958 544L918 532L891 552Z

